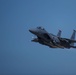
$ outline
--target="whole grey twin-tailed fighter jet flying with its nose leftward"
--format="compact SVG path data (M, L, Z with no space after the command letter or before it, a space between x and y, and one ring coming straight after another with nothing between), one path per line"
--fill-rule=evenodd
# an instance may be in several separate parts
M62 38L61 30L59 30L57 35L48 33L42 27L29 29L29 31L36 36L36 38L33 38L33 40L31 40L32 42L38 42L42 45L49 46L50 48L62 48L62 49L76 48L76 46L74 46L74 43L76 43L75 40L76 30L73 31L73 34L70 39Z

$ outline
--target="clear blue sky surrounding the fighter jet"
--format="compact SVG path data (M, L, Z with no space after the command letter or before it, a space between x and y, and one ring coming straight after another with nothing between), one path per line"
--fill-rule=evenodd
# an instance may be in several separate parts
M76 49L31 42L37 26L70 38L76 0L0 0L0 75L76 75Z

